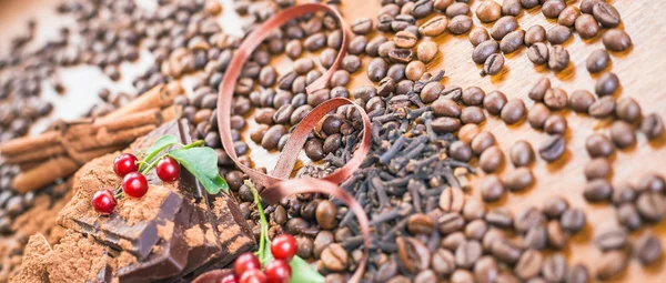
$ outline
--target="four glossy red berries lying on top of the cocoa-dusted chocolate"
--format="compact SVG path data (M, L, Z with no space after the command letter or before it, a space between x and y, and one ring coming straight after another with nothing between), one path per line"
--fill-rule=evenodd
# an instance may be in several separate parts
M130 198L141 198L148 192L148 180L145 173L152 169L148 168L139 172L139 160L130 153L123 153L113 161L113 172L122 178L122 192ZM173 182L180 176L180 164L170 156L162 158L155 172L160 180ZM92 196L92 208L102 214L110 214L115 209L115 196L109 189L100 190Z

